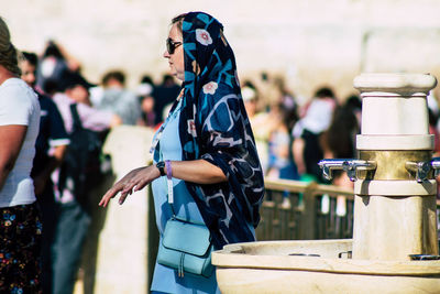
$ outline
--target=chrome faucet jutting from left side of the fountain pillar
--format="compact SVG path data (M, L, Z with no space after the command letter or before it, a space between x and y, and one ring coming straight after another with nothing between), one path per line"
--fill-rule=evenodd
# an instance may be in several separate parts
M346 175L349 176L351 182L358 179L356 176L358 168L362 171L373 171L376 170L377 167L375 161L363 161L363 160L352 160L352 159L322 160L318 163L318 165L319 167L321 167L324 178L330 181L333 177L332 176L333 170L342 170L346 172Z

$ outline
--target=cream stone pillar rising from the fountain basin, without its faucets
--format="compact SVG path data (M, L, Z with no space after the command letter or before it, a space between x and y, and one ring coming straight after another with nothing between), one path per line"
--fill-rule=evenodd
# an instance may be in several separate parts
M418 183L406 163L429 162L433 135L428 131L427 94L431 75L362 74L360 160L375 171L359 171L354 186L353 259L408 260L409 254L438 254L436 195L430 172Z

